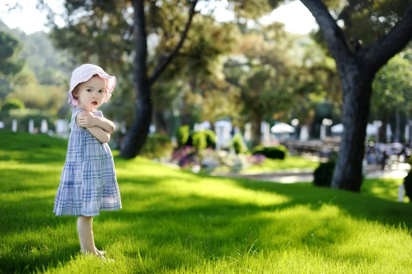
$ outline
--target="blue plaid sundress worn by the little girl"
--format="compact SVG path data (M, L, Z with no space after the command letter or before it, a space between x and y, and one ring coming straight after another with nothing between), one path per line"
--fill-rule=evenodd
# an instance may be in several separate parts
M57 216L97 216L101 210L122 208L115 163L108 144L102 144L87 128L76 124L84 109L73 108L66 163L54 201ZM93 115L103 117L101 111Z

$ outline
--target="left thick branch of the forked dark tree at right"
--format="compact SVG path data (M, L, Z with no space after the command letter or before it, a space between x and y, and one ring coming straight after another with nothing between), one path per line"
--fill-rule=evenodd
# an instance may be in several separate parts
M336 65L341 65L352 56L346 43L345 34L336 24L336 21L330 15L328 8L321 0L301 0L316 19L321 28L323 38L328 43L328 48L332 54Z

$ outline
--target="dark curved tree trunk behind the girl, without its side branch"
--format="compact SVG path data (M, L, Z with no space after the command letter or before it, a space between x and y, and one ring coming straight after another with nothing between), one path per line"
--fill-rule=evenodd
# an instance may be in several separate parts
M120 148L120 157L130 159L135 157L144 145L149 133L152 120L152 100L150 100L150 84L148 82L146 59L146 23L144 17L144 3L141 0L133 1L135 38L137 50L135 56L135 88L136 114L135 121L126 133Z

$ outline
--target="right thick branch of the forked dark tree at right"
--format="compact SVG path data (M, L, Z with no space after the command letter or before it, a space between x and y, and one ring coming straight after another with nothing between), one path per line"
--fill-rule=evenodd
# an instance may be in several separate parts
M412 0L409 1L409 8L404 16L389 33L380 38L375 43L367 45L361 50L364 60L371 72L380 69L395 54L400 52L412 38Z

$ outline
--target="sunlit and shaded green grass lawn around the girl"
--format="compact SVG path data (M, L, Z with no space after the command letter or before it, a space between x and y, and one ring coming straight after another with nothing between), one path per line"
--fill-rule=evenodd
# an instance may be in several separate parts
M0 273L412 272L412 207L395 202L396 181L356 194L140 157L115 157L123 209L94 220L97 247L116 263L81 258L76 217L52 213L66 141L0 139Z

